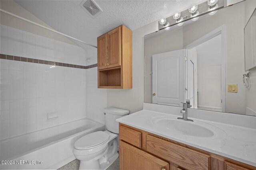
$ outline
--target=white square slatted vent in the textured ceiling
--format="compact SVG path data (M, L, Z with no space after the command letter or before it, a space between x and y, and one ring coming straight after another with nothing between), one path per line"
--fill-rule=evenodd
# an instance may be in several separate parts
M94 0L84 0L81 3L84 8L93 18L102 13L102 9L94 2Z

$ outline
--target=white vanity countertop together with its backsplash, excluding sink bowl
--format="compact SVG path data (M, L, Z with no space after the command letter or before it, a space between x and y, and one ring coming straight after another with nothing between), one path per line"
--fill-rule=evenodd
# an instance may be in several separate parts
M181 109L181 107L144 103L142 111L122 117L117 121L192 147L256 166L256 117L188 109L188 118L193 119L194 122L186 123L200 124L210 129L214 133L211 137L194 137L182 133L172 133L167 128L161 128L154 124L154 121L161 117L173 120L176 120L176 117L182 117ZM183 120L178 121L182 122Z

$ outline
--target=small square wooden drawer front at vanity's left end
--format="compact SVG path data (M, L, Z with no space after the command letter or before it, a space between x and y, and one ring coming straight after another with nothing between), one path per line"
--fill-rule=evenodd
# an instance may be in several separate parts
M119 140L126 141L138 148L141 148L141 134L141 132L133 129L119 126Z

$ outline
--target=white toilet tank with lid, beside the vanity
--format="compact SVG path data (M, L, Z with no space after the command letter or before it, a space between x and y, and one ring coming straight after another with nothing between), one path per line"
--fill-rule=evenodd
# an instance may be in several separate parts
M119 133L119 126L116 119L128 115L128 110L118 109L115 107L104 108L106 129L113 133Z

